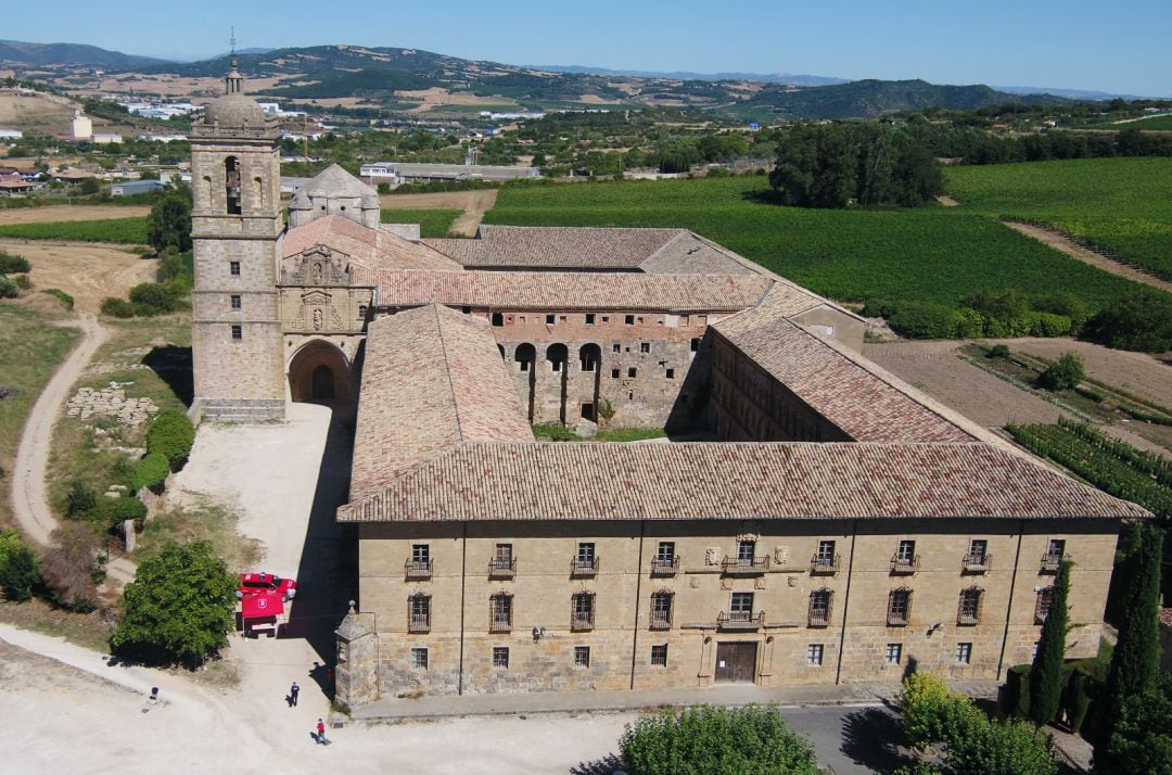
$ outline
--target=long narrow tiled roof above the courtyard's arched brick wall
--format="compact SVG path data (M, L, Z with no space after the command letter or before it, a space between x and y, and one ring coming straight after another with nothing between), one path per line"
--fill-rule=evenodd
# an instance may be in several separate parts
M771 280L755 274L574 272L379 272L357 270L379 304L498 310L641 310L732 312L757 304Z

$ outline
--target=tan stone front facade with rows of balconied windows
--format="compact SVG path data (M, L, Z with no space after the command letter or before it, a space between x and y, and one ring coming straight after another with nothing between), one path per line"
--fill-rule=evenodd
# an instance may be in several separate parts
M717 664L725 644L750 645L748 680L762 686L898 682L913 664L988 680L1031 658L1038 592L1054 583L1042 557L1054 539L1075 563L1068 655L1097 652L1117 530L1110 519L362 524L359 584L379 632L384 695L707 686L731 680ZM745 541L758 565L722 569ZM813 565L827 541L834 563ZM901 541L915 542L914 564L893 569ZM966 567L973 541L987 542L986 559ZM665 542L674 566L654 564ZM582 543L593 544L597 570L572 572ZM511 546L515 571L491 578L498 544ZM420 545L430 573L408 578ZM911 592L895 619L892 590ZM980 590L973 618L960 616L967 590ZM811 613L811 593L822 591L825 619ZM493 632L500 592L512 596L512 616ZM590 628L573 627L580 593L594 596ZM653 596L662 593L672 600L667 620L653 624ZM720 624L737 593L752 596L759 623ZM425 632L409 632L411 596L429 598ZM666 664L653 664L653 647L659 657L665 646ZM812 646L820 665L811 664ZM575 664L582 647L586 665ZM413 666L421 648L425 668ZM507 667L493 666L495 648L507 648Z

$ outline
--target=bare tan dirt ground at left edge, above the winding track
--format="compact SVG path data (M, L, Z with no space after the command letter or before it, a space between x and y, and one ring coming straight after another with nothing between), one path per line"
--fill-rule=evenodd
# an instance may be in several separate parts
M0 239L0 250L28 259L35 288L61 288L74 298L75 310L90 314L105 297L125 298L135 285L152 281L157 266L124 247L97 243Z

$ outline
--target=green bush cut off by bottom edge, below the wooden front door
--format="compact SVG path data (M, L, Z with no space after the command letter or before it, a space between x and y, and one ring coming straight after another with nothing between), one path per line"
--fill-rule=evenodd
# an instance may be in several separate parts
M643 715L626 726L619 750L633 775L819 771L813 746L775 706L701 705Z

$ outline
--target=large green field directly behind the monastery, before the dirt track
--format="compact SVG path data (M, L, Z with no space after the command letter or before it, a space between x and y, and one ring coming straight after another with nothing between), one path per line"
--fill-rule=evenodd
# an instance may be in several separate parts
M755 198L768 190L762 177L506 185L485 223L680 226L844 301L1064 288L1098 310L1133 287L961 208L803 210Z

